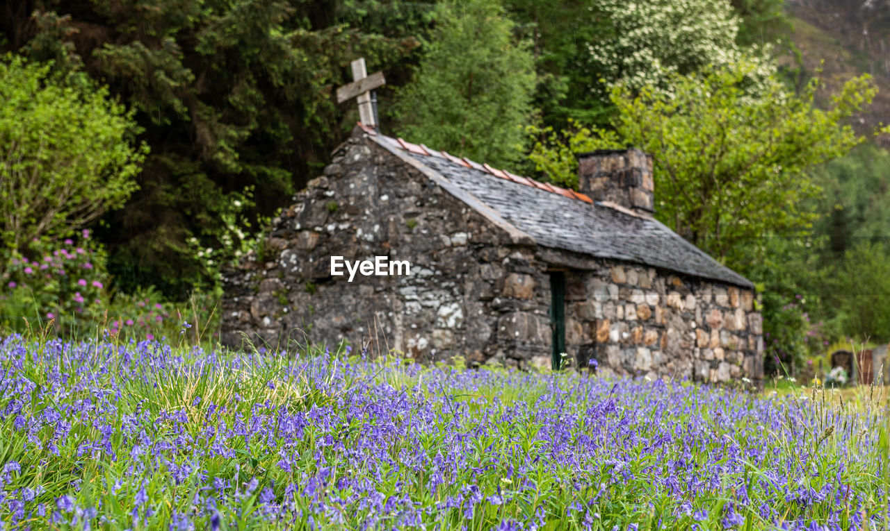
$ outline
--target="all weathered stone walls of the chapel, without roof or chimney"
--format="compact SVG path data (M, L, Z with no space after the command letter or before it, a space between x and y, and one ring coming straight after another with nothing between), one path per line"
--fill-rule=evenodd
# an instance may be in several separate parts
M579 365L704 381L762 375L752 289L539 244L454 181L356 131L275 220L263 259L227 273L223 341L238 344L244 331L276 346L370 341L422 360L549 366L560 272L565 351ZM349 282L331 275L332 256L412 268Z

